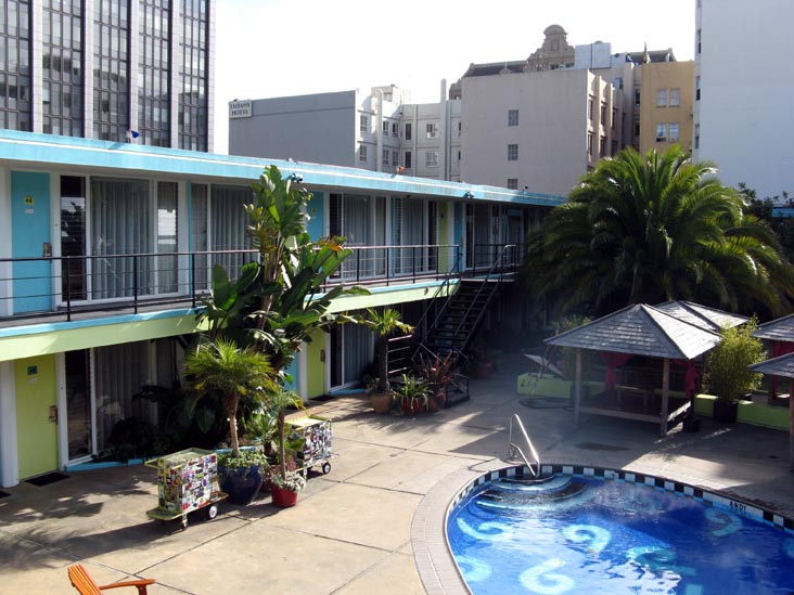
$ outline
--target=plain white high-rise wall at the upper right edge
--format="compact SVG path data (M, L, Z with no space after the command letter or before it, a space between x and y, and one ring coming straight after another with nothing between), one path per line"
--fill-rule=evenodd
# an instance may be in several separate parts
M792 20L789 0L697 0L695 9L694 158L760 197L794 189Z

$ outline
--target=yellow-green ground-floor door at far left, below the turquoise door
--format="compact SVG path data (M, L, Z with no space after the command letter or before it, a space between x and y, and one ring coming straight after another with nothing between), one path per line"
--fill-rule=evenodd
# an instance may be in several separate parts
M15 362L16 445L20 478L57 468L55 357Z

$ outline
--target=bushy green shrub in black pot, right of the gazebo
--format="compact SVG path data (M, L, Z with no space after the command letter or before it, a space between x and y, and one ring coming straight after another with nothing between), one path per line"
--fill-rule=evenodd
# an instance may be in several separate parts
M714 402L717 422L735 422L737 401L760 386L763 375L747 367L767 358L761 340L753 337L756 327L756 320L751 319L742 326L726 328L706 359L704 381L717 397Z

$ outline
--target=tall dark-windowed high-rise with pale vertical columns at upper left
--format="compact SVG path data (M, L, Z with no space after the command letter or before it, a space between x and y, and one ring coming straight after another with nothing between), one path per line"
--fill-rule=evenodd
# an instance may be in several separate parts
M0 128L213 150L213 0L0 0Z

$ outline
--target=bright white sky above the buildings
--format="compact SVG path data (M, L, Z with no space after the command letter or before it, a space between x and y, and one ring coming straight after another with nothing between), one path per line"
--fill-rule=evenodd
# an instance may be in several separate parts
M220 0L215 152L228 152L228 103L396 85L440 99L471 63L524 60L561 25L571 46L694 55L695 0Z

